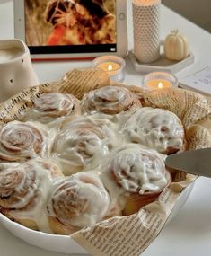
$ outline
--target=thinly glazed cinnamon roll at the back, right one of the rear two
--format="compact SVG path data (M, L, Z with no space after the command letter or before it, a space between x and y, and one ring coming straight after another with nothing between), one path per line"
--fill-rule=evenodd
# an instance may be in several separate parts
M124 87L106 86L86 93L82 106L86 113L101 112L113 115L139 108L141 103L135 93Z

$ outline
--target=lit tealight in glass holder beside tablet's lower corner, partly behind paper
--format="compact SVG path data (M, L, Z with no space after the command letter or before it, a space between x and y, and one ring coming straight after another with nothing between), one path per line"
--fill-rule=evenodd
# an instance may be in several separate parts
M125 77L126 62L122 57L101 56L93 60L93 66L99 67L110 75L112 81L122 81Z

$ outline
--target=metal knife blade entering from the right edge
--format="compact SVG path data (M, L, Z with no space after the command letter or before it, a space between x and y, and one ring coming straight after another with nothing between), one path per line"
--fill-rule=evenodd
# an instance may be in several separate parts
M211 148L171 154L165 159L167 167L211 178Z

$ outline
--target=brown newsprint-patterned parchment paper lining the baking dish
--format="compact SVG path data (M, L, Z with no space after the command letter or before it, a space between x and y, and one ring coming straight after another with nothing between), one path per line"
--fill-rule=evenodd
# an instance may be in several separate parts
M108 75L99 69L74 69L61 81L31 87L2 103L0 119L3 122L21 119L22 113L31 108L31 100L44 92L72 93L81 98L84 93L109 84ZM186 130L188 149L211 146L211 98L182 89L146 93L136 86L115 83L110 85L121 85L136 92L144 106L171 110L177 114ZM180 192L196 178L191 174L177 172L171 186L163 190L159 199L143 207L138 213L112 217L71 236L92 255L140 255L161 232Z

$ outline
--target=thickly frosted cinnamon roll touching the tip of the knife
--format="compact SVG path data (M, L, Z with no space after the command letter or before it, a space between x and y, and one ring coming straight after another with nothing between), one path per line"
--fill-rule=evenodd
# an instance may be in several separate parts
M111 153L106 165L102 179L103 175L109 175L112 186L119 188L113 196L119 193L122 199L123 195L123 215L134 214L153 202L171 181L163 156L144 146L121 146Z

